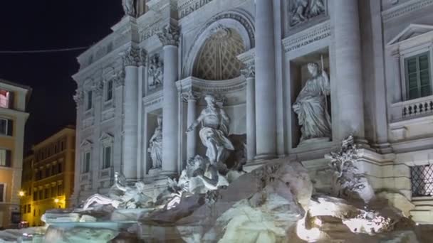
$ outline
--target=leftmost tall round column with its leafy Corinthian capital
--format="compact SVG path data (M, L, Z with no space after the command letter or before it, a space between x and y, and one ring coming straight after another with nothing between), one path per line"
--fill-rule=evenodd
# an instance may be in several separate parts
M137 99L138 66L141 65L140 50L131 47L123 56L125 65L125 124L122 149L122 171L126 178L137 177Z

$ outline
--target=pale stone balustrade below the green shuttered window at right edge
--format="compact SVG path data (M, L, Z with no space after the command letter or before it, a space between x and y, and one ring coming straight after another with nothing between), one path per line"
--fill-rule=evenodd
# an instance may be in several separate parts
M429 114L433 115L433 95L392 104L391 112L392 121L412 119Z

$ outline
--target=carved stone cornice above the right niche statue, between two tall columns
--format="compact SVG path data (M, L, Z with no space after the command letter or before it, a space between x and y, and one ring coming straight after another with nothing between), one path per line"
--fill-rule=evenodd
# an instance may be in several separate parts
M283 39L283 47L286 53L288 53L328 37L330 37L330 21L325 21Z

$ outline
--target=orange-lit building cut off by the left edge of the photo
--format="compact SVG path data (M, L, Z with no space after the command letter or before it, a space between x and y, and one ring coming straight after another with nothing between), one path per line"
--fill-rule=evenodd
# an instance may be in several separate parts
M31 88L0 79L0 228L19 223L26 104Z

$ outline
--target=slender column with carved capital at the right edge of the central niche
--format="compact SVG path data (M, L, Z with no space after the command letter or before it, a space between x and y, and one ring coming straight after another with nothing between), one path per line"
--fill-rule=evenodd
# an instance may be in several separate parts
M242 75L246 77L246 159L253 161L256 156L256 94L254 63L248 63Z

